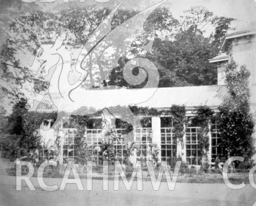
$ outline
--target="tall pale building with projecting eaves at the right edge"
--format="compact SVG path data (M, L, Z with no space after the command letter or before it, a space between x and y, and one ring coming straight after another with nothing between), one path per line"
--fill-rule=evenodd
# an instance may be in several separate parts
M251 73L249 77L250 107L256 125L256 23L246 28L236 29L228 33L222 44L222 54L210 60L218 66L218 84L225 85L226 65L235 61L238 69L245 66ZM256 126L254 131L256 131ZM253 134L256 146L256 133ZM256 157L254 157L256 160Z

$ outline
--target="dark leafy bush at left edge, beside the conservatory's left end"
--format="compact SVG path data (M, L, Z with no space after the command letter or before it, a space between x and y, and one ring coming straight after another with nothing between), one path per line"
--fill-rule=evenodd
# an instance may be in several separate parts
M27 101L21 98L13 106L12 114L7 118L7 128L1 139L5 148L4 156L10 159L27 156L38 148L40 136L36 130L45 119L56 119L54 113L28 112Z

